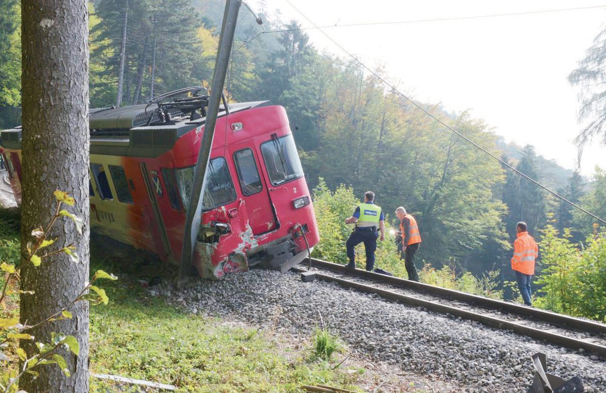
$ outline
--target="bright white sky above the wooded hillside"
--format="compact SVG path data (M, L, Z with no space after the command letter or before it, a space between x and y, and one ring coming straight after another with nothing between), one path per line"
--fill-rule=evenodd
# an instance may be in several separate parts
M263 0L249 0L259 10ZM578 90L568 74L604 28L606 0L290 0L317 25L519 13L604 5L605 8L458 21L436 21L324 31L367 65L384 64L404 93L442 102L448 111L470 109L509 142L534 145L539 154L573 168L571 140ZM285 0L264 0L282 21L298 19ZM317 30L307 30L319 50L347 56ZM262 37L261 37L262 39ZM445 131L447 132L447 131ZM606 168L606 147L585 148L581 172Z

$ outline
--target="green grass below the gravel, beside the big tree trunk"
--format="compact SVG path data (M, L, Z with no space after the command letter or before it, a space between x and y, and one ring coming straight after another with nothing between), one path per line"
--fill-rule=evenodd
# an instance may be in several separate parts
M0 257L19 259L19 223L0 211ZM91 271L125 271L98 253ZM0 285L2 282L0 277ZM135 276L121 275L101 286L107 306L90 308L90 370L93 373L156 381L179 392L302 392L301 385L325 384L360 391L358 373L335 368L305 349L289 348L279 337L220 319L189 314L151 297ZM18 315L18 297L2 315ZM325 349L328 353L329 344ZM313 344L310 342L309 346ZM334 349L330 352L333 352ZM330 356L328 356L330 358ZM91 392L137 391L91 378Z

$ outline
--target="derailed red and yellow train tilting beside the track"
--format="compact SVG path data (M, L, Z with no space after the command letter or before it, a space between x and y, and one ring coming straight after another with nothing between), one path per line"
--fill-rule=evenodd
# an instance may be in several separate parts
M208 96L199 91L90 111L93 232L178 264L205 132ZM267 102L225 109L216 122L193 266L206 278L257 264L285 271L319 241L287 114ZM0 154L18 203L21 133L20 127L0 133Z

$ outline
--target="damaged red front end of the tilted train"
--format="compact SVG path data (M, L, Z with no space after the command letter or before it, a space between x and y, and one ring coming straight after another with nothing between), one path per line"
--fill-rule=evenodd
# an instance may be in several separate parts
M208 279L256 265L287 271L311 253L319 233L284 108L232 113L217 128L231 132L215 140L192 264ZM192 174L176 170L177 182Z

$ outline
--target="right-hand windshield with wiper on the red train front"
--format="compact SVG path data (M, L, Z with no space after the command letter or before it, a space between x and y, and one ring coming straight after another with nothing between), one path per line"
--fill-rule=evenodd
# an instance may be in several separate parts
M272 136L261 145L261 153L272 185L279 185L303 176L303 168L292 134Z

